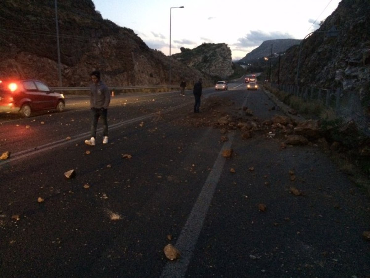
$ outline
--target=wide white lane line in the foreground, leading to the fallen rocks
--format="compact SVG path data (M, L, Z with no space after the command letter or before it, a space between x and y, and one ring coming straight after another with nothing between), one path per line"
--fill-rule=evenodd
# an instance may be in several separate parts
M211 204L213 194L215 193L223 165L225 164L222 150L231 147L234 135L235 132L230 133L229 140L223 144L221 152L218 154L215 164L202 187L202 191L199 193L188 220L186 220L185 226L180 232L175 247L179 249L181 257L177 261L168 261L162 271L161 277L185 277L191 255L203 227L203 221L206 217L209 205Z

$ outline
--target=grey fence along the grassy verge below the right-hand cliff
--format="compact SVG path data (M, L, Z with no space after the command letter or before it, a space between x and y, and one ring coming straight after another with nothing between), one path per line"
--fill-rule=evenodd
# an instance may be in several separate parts
M304 101L319 101L346 121L354 121L357 127L370 137L370 103L361 101L360 93L316 87L304 87L292 84L270 83L271 87L297 96Z

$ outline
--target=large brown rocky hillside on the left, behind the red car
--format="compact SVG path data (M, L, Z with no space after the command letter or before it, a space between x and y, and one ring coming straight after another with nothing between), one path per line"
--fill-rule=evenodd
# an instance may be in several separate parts
M50 0L2 0L0 78L37 78L59 86L55 5ZM102 19L91 0L58 1L63 86L85 86L100 70L111 86L168 84L169 58L131 29ZM196 81L199 70L173 60L172 83Z

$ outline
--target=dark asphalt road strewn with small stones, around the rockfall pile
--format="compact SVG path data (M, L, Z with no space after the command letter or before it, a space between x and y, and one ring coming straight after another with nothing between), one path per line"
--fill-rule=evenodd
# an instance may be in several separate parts
M361 189L315 145L281 149L282 138L238 129L223 141L205 124L250 118L242 107L283 114L269 94L230 83L203 95L199 114L191 91L115 96L109 144L99 123L95 147L83 143L87 98L67 97L63 113L0 115L0 153L11 152L0 161L0 276L368 277ZM169 243L179 259L165 257Z

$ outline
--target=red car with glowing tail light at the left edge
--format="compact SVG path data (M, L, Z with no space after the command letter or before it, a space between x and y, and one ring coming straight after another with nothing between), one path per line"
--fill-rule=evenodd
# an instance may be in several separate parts
M63 94L56 93L38 80L0 80L0 113L19 113L30 117L33 111L63 111Z

